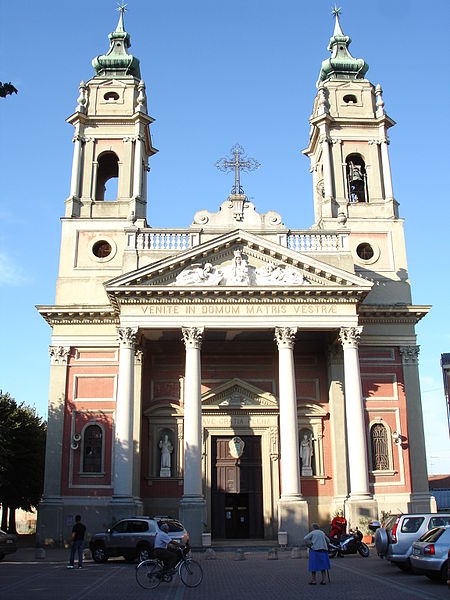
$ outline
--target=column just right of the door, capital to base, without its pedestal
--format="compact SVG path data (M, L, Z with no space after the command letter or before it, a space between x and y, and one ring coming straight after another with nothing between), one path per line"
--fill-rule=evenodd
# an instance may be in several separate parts
M296 327L276 327L280 394L281 498L301 498L294 343Z

